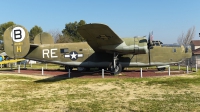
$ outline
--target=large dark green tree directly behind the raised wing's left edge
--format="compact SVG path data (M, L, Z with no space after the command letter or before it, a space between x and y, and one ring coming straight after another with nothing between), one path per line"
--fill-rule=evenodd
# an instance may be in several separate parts
M65 24L65 29L63 29L62 33L63 35L69 35L74 42L85 41L85 39L77 32L77 28L85 24L86 22L84 20L80 20L79 22L75 21L74 23L70 22Z

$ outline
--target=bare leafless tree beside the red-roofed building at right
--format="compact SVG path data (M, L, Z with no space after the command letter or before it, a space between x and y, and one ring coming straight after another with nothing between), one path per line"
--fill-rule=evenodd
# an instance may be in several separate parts
M181 36L179 36L179 38L177 39L177 42L179 45L189 46L192 39L194 39L194 36L195 36L195 26L188 29L186 35L182 33Z

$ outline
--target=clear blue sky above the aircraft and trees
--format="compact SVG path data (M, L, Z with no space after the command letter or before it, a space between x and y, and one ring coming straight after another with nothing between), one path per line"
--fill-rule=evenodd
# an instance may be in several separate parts
M176 43L193 26L200 39L200 0L2 0L0 24L13 21L30 30L62 31L66 23L107 24L120 37L144 36Z

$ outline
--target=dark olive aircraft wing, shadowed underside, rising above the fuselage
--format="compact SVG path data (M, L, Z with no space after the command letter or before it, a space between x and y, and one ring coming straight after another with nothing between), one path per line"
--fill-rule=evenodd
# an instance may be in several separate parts
M123 40L104 24L86 24L78 27L78 32L95 52L105 52L102 47L123 43Z

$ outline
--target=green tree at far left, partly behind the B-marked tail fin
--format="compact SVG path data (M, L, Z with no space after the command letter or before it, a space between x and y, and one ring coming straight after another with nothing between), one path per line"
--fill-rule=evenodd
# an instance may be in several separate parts
M9 21L7 23L3 23L3 24L0 24L0 40L3 40L3 34L5 32L5 30L10 27L10 26L13 26L15 25L14 22L12 21Z

